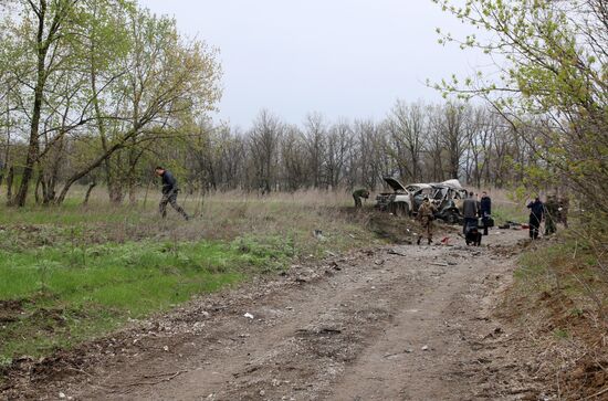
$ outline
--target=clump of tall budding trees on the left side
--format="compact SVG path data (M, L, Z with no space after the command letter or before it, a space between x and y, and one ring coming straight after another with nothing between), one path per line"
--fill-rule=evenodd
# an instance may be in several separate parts
M36 171L36 200L42 188L44 203L61 203L98 167L111 199L120 201L125 186L134 193L139 162L154 143L181 136L184 122L205 115L220 97L217 51L184 39L172 19L135 1L1 6L2 125L27 144L10 203L25 204Z

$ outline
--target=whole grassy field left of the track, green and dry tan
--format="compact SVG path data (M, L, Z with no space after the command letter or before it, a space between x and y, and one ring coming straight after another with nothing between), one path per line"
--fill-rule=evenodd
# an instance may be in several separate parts
M370 211L333 194L180 199L0 212L0 366L97 338L294 261L381 243ZM373 213L371 213L373 214ZM370 229L371 228L371 229ZM313 235L321 230L322 236Z

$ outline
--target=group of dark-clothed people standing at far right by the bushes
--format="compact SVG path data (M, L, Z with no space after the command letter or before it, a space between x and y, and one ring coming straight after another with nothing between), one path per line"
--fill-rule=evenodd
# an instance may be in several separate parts
M539 197L536 197L527 204L527 209L530 209L528 226L532 240L538 239L543 221L545 222L545 235L555 234L558 222L568 228L569 199L567 197L558 199L557 196L549 194L544 203Z

